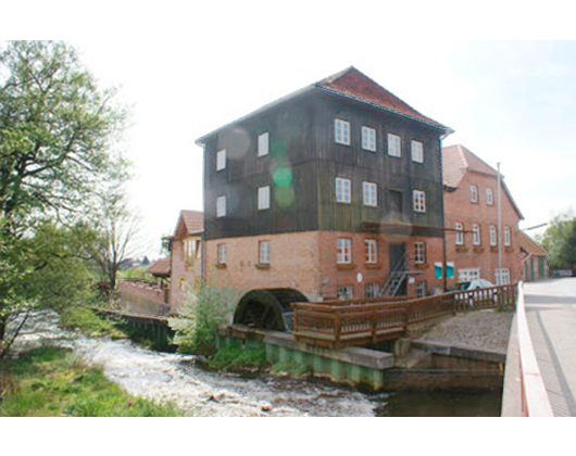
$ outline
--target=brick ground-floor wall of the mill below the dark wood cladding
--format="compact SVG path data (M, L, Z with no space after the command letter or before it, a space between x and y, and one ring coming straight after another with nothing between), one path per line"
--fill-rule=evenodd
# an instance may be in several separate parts
M351 239L352 264L337 264L337 239ZM378 263L365 263L365 240L375 239L378 243ZM259 243L268 241L271 245L270 266L259 264ZM414 243L426 242L427 262L414 265ZM240 290L264 288L291 288L300 291L312 301L336 299L338 287L353 288L353 296L364 297L366 283L384 283L390 273L389 244L405 242L409 255L409 269L417 271L413 283L408 286L408 294L416 294L420 281L426 281L431 291L442 287L441 280L434 278L434 263L443 257L441 238L393 237L368 233L333 231L310 231L274 236L229 238L206 243L206 280L209 284L227 286ZM226 244L227 264L218 265L220 244ZM362 282L359 283L359 274Z

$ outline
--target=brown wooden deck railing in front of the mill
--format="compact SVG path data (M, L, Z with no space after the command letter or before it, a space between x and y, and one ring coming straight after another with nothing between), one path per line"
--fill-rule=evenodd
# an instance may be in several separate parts
M342 347L400 338L411 326L458 312L514 306L516 287L461 291L417 300L296 303L295 337Z

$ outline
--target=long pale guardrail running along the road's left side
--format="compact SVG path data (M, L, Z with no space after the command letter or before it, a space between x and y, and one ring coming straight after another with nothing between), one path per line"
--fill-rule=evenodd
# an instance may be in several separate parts
M528 330L523 282L518 283L516 320L519 345L522 415L530 418L551 418L554 414L538 367L538 360L536 359Z

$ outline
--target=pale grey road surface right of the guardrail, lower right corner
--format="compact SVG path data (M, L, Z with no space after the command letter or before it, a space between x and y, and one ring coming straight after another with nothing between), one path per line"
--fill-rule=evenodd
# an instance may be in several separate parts
M576 417L576 278L525 283L526 315L555 417Z

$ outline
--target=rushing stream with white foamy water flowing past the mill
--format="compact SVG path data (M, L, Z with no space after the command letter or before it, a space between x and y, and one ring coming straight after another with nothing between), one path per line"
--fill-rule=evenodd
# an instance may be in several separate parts
M375 417L497 416L498 396L486 394L376 395L328 383L264 376L242 379L195 366L195 356L153 352L128 340L89 339L58 328L58 315L30 317L17 349L43 343L67 346L127 392L172 402L186 416ZM496 414L496 415L494 415Z

